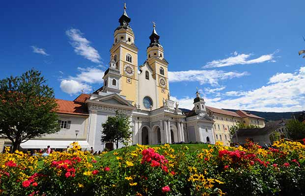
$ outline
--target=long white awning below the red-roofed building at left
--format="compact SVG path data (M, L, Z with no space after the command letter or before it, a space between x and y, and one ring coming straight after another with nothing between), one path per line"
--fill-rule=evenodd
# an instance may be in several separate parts
M67 148L67 146L71 146L75 142L74 140L28 140L25 143L20 144L20 147L24 149L29 148L47 148L50 146L51 148ZM87 141L77 141L82 148L90 147Z

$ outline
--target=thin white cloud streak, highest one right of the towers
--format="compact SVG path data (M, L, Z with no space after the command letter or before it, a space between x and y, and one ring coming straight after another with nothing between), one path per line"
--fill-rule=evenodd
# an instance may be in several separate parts
M276 62L274 60L275 58L275 51L272 54L265 54L261 55L258 58L255 59L249 59L250 56L253 54L238 54L236 51L233 53L234 56L230 56L225 59L219 59L219 60L213 60L211 62L208 62L203 68L215 68L215 67L225 67L225 66L233 66L233 65L246 65L246 64L254 64L254 63L263 63L266 61L270 62Z

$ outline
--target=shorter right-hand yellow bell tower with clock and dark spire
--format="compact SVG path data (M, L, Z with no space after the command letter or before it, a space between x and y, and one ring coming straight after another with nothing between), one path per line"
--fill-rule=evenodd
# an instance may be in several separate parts
M156 24L153 22L153 31L149 36L150 44L147 47L147 62L153 69L153 78L156 79L157 105L163 106L163 99L169 99L169 83L167 66L164 58L164 49L161 46L160 36L156 31Z

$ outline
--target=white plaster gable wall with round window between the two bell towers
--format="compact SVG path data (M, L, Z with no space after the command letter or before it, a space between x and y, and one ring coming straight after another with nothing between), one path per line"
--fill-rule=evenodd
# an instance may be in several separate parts
M143 105L143 98L149 96L153 101L153 110L157 109L156 97L156 80L152 77L152 71L145 65L141 67L142 72L138 74L139 77L139 104L140 109L149 110ZM145 72L149 72L149 80L145 78Z

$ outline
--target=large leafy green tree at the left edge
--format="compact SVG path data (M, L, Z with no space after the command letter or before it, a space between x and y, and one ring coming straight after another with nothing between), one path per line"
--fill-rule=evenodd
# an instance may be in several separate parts
M0 136L14 152L31 138L59 131L56 107L54 90L37 70L0 80Z

